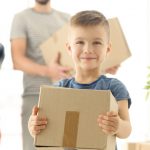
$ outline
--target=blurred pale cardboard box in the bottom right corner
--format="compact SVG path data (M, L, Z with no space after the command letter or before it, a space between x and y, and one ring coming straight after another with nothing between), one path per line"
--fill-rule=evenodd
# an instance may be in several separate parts
M146 143L146 142L128 143L127 149L128 150L150 150L150 143Z

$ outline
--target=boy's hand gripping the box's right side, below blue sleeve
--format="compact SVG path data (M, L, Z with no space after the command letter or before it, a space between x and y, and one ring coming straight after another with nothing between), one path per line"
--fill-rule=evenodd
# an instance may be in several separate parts
M119 119L118 112L110 111L106 115L99 115L97 122L104 133L114 135L119 129Z

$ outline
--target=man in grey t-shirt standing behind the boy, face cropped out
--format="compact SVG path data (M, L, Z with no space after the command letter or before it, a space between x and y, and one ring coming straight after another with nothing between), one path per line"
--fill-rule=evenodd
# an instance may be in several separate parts
M27 122L37 104L40 85L67 78L71 68L60 64L60 55L47 66L39 46L68 22L70 15L51 7L50 0L35 0L33 8L17 13L12 22L10 42L14 69L23 72L22 137L23 150L35 150ZM51 47L49 48L52 51Z

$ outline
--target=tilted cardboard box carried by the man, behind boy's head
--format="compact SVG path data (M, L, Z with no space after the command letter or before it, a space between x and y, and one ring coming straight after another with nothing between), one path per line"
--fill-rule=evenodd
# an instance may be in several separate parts
M118 18L109 19L110 41L112 51L107 55L102 65L102 71L115 65L121 64L131 56L127 41L120 26ZM48 40L40 45L43 57L47 65L51 63L57 53L61 53L61 64L73 67L73 62L66 50L68 24L56 31Z

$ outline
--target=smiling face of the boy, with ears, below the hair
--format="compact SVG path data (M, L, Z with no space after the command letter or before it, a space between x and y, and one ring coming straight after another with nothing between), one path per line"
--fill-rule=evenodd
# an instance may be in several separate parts
M110 44L106 29L100 25L70 28L68 50L76 69L99 69Z

